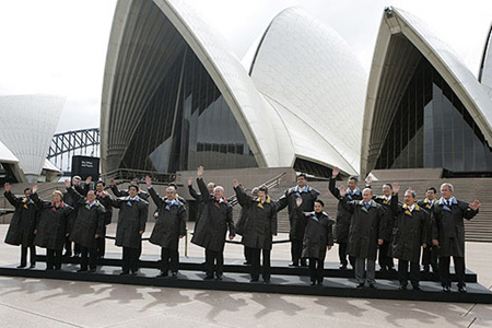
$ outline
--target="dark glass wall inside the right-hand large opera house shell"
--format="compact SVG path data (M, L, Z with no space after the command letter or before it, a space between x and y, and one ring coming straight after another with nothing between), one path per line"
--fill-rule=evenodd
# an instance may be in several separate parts
M398 105L375 168L492 171L492 149L472 117L421 58Z

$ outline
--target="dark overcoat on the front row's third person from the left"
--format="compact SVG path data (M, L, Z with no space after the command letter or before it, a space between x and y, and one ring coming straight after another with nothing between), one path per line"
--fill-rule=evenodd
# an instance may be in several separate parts
M99 238L103 236L106 209L97 199L90 206L87 199L72 187L67 188L67 191L72 197L77 211L70 241L83 247L96 248L95 235L99 235Z

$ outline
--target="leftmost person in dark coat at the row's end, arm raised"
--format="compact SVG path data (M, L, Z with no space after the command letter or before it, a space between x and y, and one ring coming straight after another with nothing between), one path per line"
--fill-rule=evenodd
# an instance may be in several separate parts
M36 211L37 207L32 199L32 195L36 194L37 187L25 188L24 198L17 198L10 191L10 184L4 184L5 191L3 196L15 208L12 221L7 232L5 243L10 245L21 246L21 263L17 268L27 266L27 248L31 255L30 268L36 267L36 247L34 246L34 230L36 229Z

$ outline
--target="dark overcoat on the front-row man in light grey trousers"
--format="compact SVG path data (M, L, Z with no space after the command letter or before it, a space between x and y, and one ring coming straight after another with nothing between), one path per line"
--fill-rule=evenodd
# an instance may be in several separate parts
M342 198L342 206L352 213L347 254L376 260L377 239L380 235L379 221L385 210L374 200L371 201L368 209L365 208L363 200L347 201Z

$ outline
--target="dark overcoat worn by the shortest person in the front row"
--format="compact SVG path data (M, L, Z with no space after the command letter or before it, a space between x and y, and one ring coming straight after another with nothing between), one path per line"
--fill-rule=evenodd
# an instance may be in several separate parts
M335 220L327 213L321 212L304 212L306 220L306 232L303 241L303 258L317 258L321 261L326 257L327 246L333 246L333 230Z

